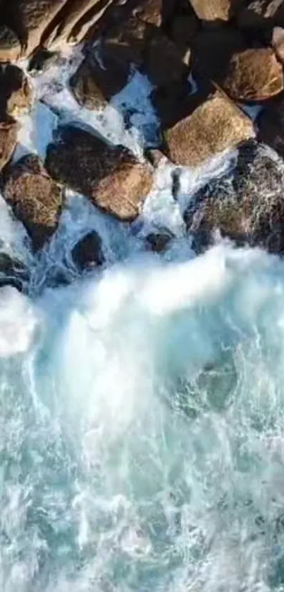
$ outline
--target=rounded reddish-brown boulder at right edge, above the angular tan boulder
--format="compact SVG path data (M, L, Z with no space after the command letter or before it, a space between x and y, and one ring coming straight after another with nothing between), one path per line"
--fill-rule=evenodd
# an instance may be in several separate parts
M271 47L235 53L222 87L235 100L262 101L283 90L283 67Z

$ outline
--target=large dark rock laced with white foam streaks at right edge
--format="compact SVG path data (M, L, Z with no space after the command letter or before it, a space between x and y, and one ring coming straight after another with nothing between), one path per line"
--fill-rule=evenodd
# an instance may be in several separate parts
M237 167L211 180L190 200L185 222L193 246L202 251L216 232L237 245L284 251L284 169L269 148L245 143Z

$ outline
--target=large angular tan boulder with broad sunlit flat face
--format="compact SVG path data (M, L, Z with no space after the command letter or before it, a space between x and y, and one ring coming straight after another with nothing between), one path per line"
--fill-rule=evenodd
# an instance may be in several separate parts
M253 136L249 117L216 90L190 115L166 131L165 152L176 165L196 167Z

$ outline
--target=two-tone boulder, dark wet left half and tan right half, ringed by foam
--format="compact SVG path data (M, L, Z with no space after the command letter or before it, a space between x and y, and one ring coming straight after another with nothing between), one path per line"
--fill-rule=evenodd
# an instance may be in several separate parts
M66 126L61 141L47 148L51 177L88 196L120 220L134 220L152 186L152 169L122 146L109 146L81 129Z

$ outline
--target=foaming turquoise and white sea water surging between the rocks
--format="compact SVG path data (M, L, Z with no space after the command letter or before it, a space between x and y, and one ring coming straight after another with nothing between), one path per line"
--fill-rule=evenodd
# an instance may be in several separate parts
M15 158L73 119L141 153L146 90L126 131L74 107L72 67L35 81ZM68 193L37 256L0 199L1 251L30 269L25 293L0 288L1 592L284 591L284 261L226 241L195 256L182 216L235 156L183 171L178 201L162 162L131 226ZM144 247L160 226L163 255ZM92 229L106 264L79 273Z

